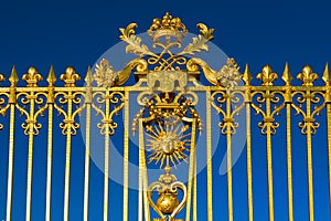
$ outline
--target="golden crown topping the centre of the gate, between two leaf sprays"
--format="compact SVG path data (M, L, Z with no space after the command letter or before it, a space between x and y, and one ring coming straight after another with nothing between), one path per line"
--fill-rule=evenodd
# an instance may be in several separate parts
M172 18L168 12L163 19L153 19L152 25L148 30L148 34L151 36L156 44L160 43L160 39L166 36L164 45L170 43L170 38L173 36L178 43L188 33L185 25L180 18Z

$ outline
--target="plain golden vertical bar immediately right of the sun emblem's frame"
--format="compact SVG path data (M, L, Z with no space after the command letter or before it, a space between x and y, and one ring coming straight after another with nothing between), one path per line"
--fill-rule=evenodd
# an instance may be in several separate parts
M206 92L206 157L207 157L207 221L213 221L213 156L212 156L212 110L211 92Z

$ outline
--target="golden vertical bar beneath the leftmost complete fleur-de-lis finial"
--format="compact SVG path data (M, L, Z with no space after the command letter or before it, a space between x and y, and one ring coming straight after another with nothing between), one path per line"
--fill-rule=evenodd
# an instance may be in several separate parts
M33 92L31 92L33 96ZM31 220L31 188L32 188L32 167L33 167L33 118L34 118L34 98L30 98L29 115L29 149L28 149L28 171L26 171L26 212L25 220Z

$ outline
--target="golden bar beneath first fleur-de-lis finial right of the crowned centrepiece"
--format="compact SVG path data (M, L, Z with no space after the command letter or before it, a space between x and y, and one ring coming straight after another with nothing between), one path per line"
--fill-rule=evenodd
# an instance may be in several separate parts
M267 91L266 110L270 117L270 92ZM267 173L268 173L268 200L269 200L269 221L274 221L274 186L273 186L273 152L271 152L271 124L267 125Z

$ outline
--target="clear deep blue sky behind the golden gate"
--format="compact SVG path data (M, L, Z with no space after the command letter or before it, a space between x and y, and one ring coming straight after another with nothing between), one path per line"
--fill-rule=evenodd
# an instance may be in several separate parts
M44 76L47 75L50 65L54 65L57 76L64 72L67 65L75 66L78 73L85 75L87 65L93 65L99 56L110 46L119 41L119 28L126 27L130 22L137 22L137 32L145 32L153 18L159 18L169 11L175 17L180 17L185 23L190 32L196 33L195 24L199 22L206 23L210 28L215 29L214 44L220 46L227 55L234 56L243 67L245 63L249 63L253 75L260 72L263 65L270 64L274 71L281 74L285 62L289 62L291 72L297 75L303 65L310 64L313 70L322 74L327 62L331 62L331 19L330 19L331 2L327 0L316 1L276 1L276 0L252 0L252 1L6 1L0 3L0 73L9 76L10 70L15 64L18 73L22 75L29 66L34 65ZM253 81L257 85L259 82ZM280 83L281 84L281 83ZM299 84L296 81L293 84ZM317 84L321 84L320 80ZM253 120L257 124L258 118ZM281 118L279 120L282 120ZM314 140L314 175L316 175L316 219L318 221L327 221L328 214L328 177L327 177L327 156L325 156L325 120L324 116L319 118L322 124L318 130ZM282 120L284 125L285 122ZM296 122L293 122L295 128ZM253 127L256 128L256 127ZM297 129L297 127L296 127ZM298 130L298 129L297 129ZM297 151L293 169L293 188L295 188L295 215L298 220L308 220L308 199L306 191L307 175L305 171L306 164L306 143L298 131L293 131L293 144ZM258 135L255 130L255 139L258 140L253 148L253 154L256 157L256 173L254 180L254 196L256 199L255 214L256 220L267 220L267 189L265 179L264 154L258 152L258 149L265 148L265 138ZM6 131L0 133L1 139L6 139ZM18 136L18 139L24 140L23 136ZM58 144L64 144L64 138L58 136ZM285 177L285 130L279 129L279 135L275 137L275 156L274 164L275 177ZM77 145L84 145L82 138L75 138ZM18 141L17 144L24 144ZM61 145L60 145L61 146ZM7 145L1 146L0 165L3 167L7 164ZM41 147L41 149L44 146ZM20 160L25 162L24 152L20 151L15 168L22 165L21 173L25 172L25 164L20 164ZM60 147L57 155L58 159L64 151L64 147ZM73 150L77 159L83 160L84 151ZM222 157L224 150L220 150L216 155ZM35 156L45 155L45 150L36 150ZM38 159L38 157L36 157ZM63 160L63 159L62 159ZM61 161L61 160L60 160ZM45 171L43 160L36 160L35 171L41 173ZM76 161L77 165L79 160ZM220 161L215 161L220 165ZM235 183L241 183L245 173L245 156L242 156L237 166L234 168ZM40 167L39 167L40 166ZM279 167L278 167L279 166ZM63 165L58 162L58 177ZM55 168L54 167L54 168ZM95 166L95 180L103 181L102 172L98 172ZM217 166L215 167L217 169ZM261 168L259 170L259 168ZM302 169L303 168L303 169ZM319 169L322 168L322 169ZM244 170L242 170L244 169ZM0 220L6 217L6 172L7 169L0 170ZM73 191L77 199L83 199L79 194L83 186L82 172L77 175L74 182L77 185ZM236 177L238 176L238 177ZM218 181L220 188L215 191L215 198L220 197L220 201L214 201L215 220L226 220L226 176L221 176L215 172L215 180ZM244 177L245 178L245 177ZM18 178L20 180L20 178ZM22 179L24 180L24 179ZM43 178L40 178L40 187L42 187ZM58 183L63 183L58 178ZM243 180L242 180L243 181ZM275 181L275 213L276 220L286 220L287 201L285 179ZM36 181L38 182L38 181ZM17 181L15 183L19 183ZM81 185L79 185L81 183ZM202 181L203 183L203 181ZM303 185L302 185L303 183ZM94 183L95 185L95 183ZM18 212L14 213L13 220L20 221L24 218L24 187L20 188L14 197L14 206ZM38 190L39 186L35 186ZM111 187L118 190L116 183ZM235 218L237 220L246 219L246 192L235 186L234 200L238 203L235 208ZM58 186L61 191L62 186ZM21 190L20 190L21 189ZM236 191L238 190L238 191ZM55 190L54 190L55 191ZM42 192L42 191L41 191ZM56 191L55 191L56 193ZM35 194L39 196L38 191ZM111 194L111 193L110 193ZM118 192L114 192L118 194ZM132 193L134 194L134 193ZM42 193L40 193L42 196ZM120 197L120 196L119 196ZM242 199L243 202L242 202ZM96 217L93 220L100 220L102 212L102 194L96 194L95 203L92 203L96 211ZM53 204L62 207L62 199L54 198ZM39 209L43 209L43 201L35 201L36 206L32 208L32 215L35 221L43 220L43 214L39 215ZM56 207L54 210L56 211ZM71 210L72 220L81 220L81 204L73 206ZM113 207L113 206L111 206ZM121 207L113 208L113 211ZM205 210L204 207L202 207ZM217 208L222 208L217 210ZM135 211L137 208L132 208ZM60 209L58 209L60 211ZM111 211L111 210L110 210ZM134 213L134 212L132 212ZM61 212L54 212L53 220L61 220ZM241 217L242 215L242 217ZM120 220L120 218L115 218ZM135 218L132 218L135 220ZM203 218L202 218L203 220Z

